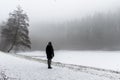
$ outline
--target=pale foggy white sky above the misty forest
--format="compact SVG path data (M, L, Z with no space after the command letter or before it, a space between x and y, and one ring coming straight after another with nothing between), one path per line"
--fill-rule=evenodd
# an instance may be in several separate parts
M120 0L0 0L0 22L8 13L21 5L31 23L40 21L64 21L95 12L114 11L120 7Z

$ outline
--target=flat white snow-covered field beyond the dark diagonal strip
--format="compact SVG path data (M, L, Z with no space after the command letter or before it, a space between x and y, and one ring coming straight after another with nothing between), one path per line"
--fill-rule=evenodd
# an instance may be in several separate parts
M42 51L19 54L46 60ZM120 71L119 51L55 51L53 61Z

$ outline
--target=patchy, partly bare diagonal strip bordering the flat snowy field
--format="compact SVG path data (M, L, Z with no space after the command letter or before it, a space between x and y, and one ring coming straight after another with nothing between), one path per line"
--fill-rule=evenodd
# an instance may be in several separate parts
M14 56L22 57L22 58L33 60L33 61L38 61L40 63L45 63L45 64L47 62L46 60L43 60L40 58L38 59L31 56L25 56L25 55L14 55ZM84 72L92 75L97 75L100 77L107 77L113 80L120 80L120 72L114 71L114 70L106 70L106 69L100 69L100 68L94 68L94 67L88 67L88 66L65 64L60 62L52 62L52 65L57 67L62 67L62 68L68 68L74 71L80 71L80 72Z

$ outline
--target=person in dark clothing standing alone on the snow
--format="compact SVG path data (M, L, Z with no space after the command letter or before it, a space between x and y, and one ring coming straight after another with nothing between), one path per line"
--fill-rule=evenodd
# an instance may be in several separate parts
M54 49L51 42L48 42L48 45L46 47L46 55L47 55L48 69L52 69L51 61L52 58L54 57Z

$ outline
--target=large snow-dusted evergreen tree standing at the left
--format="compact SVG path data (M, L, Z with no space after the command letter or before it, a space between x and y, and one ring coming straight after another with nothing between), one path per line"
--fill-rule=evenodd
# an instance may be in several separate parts
M15 51L26 48L31 49L28 22L28 16L20 6L17 7L17 10L9 14L6 27L2 29L2 36L5 37L5 41L9 44L8 52L12 49ZM6 47L8 47L8 45Z

